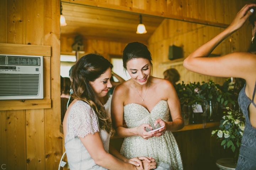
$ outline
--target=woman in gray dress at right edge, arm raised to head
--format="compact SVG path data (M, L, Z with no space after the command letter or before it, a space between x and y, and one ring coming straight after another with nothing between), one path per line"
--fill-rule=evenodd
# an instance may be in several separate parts
M237 170L256 169L256 4L245 5L234 21L223 32L191 53L183 62L188 70L216 77L236 77L236 87L243 87L239 94L239 106L245 115ZM255 12L254 12L255 11ZM249 52L233 52L221 57L209 57L220 42L240 29L249 18L252 24L252 44ZM244 81L243 81L244 80ZM243 82L243 83L242 83ZM244 84L244 85L243 85ZM241 88L240 88L241 89Z

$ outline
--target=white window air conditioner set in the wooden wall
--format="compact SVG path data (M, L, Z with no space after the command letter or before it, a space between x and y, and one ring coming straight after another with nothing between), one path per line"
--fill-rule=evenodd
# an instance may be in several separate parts
M43 56L0 54L0 100L43 98Z

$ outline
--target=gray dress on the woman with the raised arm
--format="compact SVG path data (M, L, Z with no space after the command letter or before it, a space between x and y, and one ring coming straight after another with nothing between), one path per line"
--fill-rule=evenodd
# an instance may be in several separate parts
M238 97L239 106L245 116L245 129L236 170L256 170L256 128L251 125L248 111L248 107L251 103L256 107L256 104L254 103L256 83L252 100L245 94L245 85Z

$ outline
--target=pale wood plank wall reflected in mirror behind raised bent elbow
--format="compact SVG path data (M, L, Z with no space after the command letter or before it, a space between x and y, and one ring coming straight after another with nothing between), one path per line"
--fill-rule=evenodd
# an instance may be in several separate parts
M248 24L245 24L241 30L225 39L212 53L221 56L234 51L246 51L251 39L251 28L247 27L247 25ZM246 29L248 30L246 31ZM169 46L175 45L182 47L183 56L186 58L199 46L203 45L223 30L224 28L165 19L148 40L148 47L153 58L153 75L155 77L164 78L163 73L166 69L175 68L181 76L178 83L181 83L181 81L185 83L194 81L202 82L212 79L218 84L223 84L225 78L193 73L185 69L182 63L175 65L175 62L173 62L172 65L168 59ZM162 63L168 64L161 66Z

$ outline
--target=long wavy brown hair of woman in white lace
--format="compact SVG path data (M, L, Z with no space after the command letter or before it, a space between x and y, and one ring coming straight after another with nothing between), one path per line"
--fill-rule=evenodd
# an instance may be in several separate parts
M81 57L72 71L71 97L88 103L97 114L100 129L113 134L108 114L89 83L99 78L108 68L112 69L113 65L101 55L88 54Z

